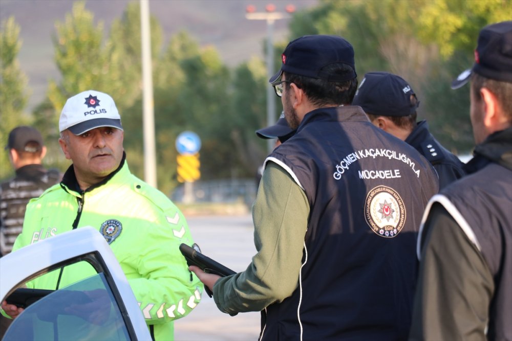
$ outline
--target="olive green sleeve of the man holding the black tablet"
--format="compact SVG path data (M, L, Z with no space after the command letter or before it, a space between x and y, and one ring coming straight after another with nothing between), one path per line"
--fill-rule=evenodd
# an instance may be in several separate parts
M261 311L289 297L298 284L309 203L280 166L265 169L252 208L257 254L244 272L221 278L214 300L225 313Z

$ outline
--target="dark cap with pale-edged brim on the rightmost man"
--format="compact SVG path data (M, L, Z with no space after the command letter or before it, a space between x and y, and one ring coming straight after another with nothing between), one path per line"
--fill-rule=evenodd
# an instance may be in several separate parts
M512 83L512 21L488 25L480 31L475 63L452 82L452 89L466 84L473 73Z

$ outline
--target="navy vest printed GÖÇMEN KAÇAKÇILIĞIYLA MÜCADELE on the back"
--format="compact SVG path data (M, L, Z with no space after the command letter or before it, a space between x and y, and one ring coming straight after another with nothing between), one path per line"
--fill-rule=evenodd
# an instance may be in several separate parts
M358 106L309 112L266 162L304 189L310 217L300 283L266 308L261 339L406 339L430 163Z

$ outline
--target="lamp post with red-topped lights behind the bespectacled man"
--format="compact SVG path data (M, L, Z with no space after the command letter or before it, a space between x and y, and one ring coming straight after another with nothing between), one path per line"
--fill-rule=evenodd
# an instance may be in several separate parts
M247 6L245 17L249 20L266 20L267 21L267 79L273 76L273 61L274 61L274 43L273 43L273 31L274 21L279 19L289 18L288 13L295 11L295 7L292 5L286 6L286 12L274 12L275 6L268 4L265 7L266 12L255 12L256 8L252 5ZM271 126L275 123L275 98L274 90L269 85L267 86L267 126ZM267 141L268 153L272 152L275 142L269 139Z

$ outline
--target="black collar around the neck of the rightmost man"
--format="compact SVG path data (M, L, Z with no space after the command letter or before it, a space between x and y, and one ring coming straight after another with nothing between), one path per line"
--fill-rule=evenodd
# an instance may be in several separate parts
M482 169L489 162L512 170L512 127L490 134L473 151L474 157L465 165L467 173Z

